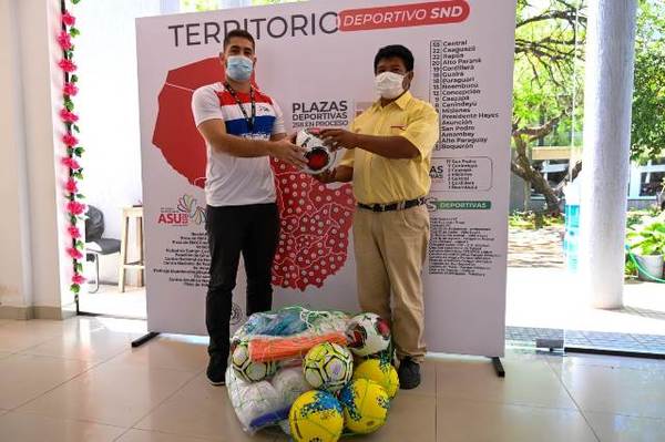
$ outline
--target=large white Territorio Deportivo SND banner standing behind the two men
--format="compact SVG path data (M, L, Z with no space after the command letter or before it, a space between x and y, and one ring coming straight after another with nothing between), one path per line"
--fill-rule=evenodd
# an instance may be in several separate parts
M374 58L403 44L411 92L440 114L432 154L426 329L430 351L502 356L515 0L310 1L136 21L151 331L205 335L206 151L192 93L218 82L222 41L256 38L256 83L287 129L346 127L375 100ZM350 184L273 163L282 234L276 307L357 311ZM244 320L241 267L232 321Z

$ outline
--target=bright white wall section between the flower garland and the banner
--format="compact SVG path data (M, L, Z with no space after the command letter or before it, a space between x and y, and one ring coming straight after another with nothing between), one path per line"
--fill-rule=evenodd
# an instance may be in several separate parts
M76 8L82 192L104 213L105 236L120 238L121 213L141 202L134 19L158 14L160 0L88 1Z

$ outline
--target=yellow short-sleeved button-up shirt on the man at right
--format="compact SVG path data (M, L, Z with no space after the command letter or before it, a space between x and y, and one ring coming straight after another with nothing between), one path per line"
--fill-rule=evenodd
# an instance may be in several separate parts
M407 91L386 106L376 102L354 120L350 131L403 136L419 151L415 158L392 160L362 148L349 150L340 165L354 167L354 193L359 203L398 203L429 193L431 154L439 140L439 114L431 104Z

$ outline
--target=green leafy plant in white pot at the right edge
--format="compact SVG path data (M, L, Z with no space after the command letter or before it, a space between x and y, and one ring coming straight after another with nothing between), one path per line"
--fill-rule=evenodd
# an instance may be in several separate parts
M663 216L644 220L633 226L626 238L635 260L640 265L637 276L642 280L663 278L665 255L665 219Z

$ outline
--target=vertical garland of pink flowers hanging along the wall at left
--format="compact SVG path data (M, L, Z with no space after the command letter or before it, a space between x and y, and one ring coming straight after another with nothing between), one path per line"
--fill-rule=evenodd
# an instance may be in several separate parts
M80 0L69 0L72 4L79 3ZM72 277L70 290L76 298L76 306L79 304L79 291L81 285L85 282L83 277L83 259L85 243L81 239L82 235L79 230L78 224L84 219L88 206L81 201L84 198L83 194L79 192L79 182L83 179L83 167L79 164L79 160L84 152L84 148L79 145L79 140L74 136L74 133L79 133L79 115L74 113L74 102L72 97L79 92L76 83L79 78L74 72L76 71L76 64L73 61L74 58L74 44L72 39L80 34L79 30L74 27L76 19L69 12L65 0L60 1L61 16L61 31L57 37L58 44L62 49L62 59L58 63L58 66L62 70L64 75L64 85L62 88L62 109L60 110L60 120L64 124L64 134L62 135L62 143L66 146L66 155L62 158L62 165L68 168L68 181L64 184L64 193L66 196L66 214L69 217L68 234L70 237L69 245L66 247L66 254L72 258Z

